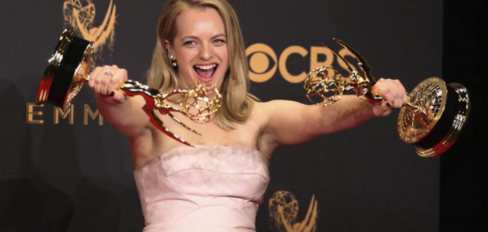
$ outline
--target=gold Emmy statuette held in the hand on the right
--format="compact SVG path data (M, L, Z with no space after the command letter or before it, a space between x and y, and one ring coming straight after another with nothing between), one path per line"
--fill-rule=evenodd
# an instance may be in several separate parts
M339 39L334 40L358 60L363 75L324 44L347 65L349 77L341 76L333 67L311 70L304 83L308 99L317 105L327 106L338 101L343 92L354 90L359 98L372 104L382 102L380 95L371 92L376 81L366 60L351 46ZM413 145L418 155L438 156L454 144L466 124L469 110L470 100L465 87L458 83L446 85L437 77L428 78L409 93L408 101L398 115L398 134L403 142Z

